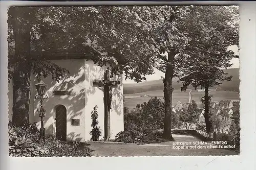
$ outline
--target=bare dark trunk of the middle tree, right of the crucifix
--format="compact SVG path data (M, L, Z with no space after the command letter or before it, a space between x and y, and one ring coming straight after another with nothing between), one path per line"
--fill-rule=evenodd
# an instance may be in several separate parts
M171 131L172 120L172 94L173 94L173 76L174 76L174 52L168 53L168 63L164 77L164 129L163 138L173 140Z

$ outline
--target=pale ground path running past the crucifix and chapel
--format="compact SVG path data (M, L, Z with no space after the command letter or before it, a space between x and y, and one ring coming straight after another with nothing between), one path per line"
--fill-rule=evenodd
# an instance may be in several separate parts
M173 135L176 141L200 141L190 135ZM93 150L93 156L207 156L207 155L237 155L236 152L225 149L173 149L173 142L152 144L124 143L93 143L85 144Z

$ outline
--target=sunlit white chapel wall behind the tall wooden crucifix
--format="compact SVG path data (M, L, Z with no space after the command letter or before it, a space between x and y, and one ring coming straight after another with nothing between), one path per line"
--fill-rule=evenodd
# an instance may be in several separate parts
M93 61L85 61L85 74L86 74L86 140L91 139L90 131L92 130L91 112L97 105L98 109L98 127L102 133L100 139L104 136L104 90L103 87L93 85L95 79L103 80L106 66L100 67L94 64ZM121 81L120 85L112 88L112 109L110 111L110 128L111 138L114 139L115 135L123 131L123 88L122 77L113 77L110 80Z

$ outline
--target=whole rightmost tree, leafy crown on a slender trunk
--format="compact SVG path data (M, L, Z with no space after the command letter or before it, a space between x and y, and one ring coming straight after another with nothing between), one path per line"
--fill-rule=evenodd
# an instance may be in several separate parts
M190 84L195 89L205 88L202 102L207 132L212 127L209 88L231 80L223 69L232 65L232 58L238 57L228 50L229 46L238 45L238 15L236 7L204 6L193 8L188 19L189 45L184 50L186 67L180 69L183 72L181 90L185 91Z

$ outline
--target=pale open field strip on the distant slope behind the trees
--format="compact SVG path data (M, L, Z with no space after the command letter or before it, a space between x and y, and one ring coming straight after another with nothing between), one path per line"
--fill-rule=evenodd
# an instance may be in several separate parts
M189 90L188 90L189 91ZM175 105L178 101L180 101L182 104L187 103L189 100L189 94L188 91L181 92L180 90L174 90L173 91L173 105ZM140 95L150 95L149 97L140 97ZM212 101L221 101L221 100L238 100L239 99L239 93L234 91L212 91L209 93L210 95L213 95ZM127 107L129 109L134 109L137 104L142 104L144 102L148 102L152 97L157 96L158 99L163 100L163 90L154 90L154 91L146 91L142 93L135 93L135 94L125 94L124 99L124 107ZM201 97L204 96L204 92L198 92L198 91L191 91L191 100L195 100L196 102L201 102Z

